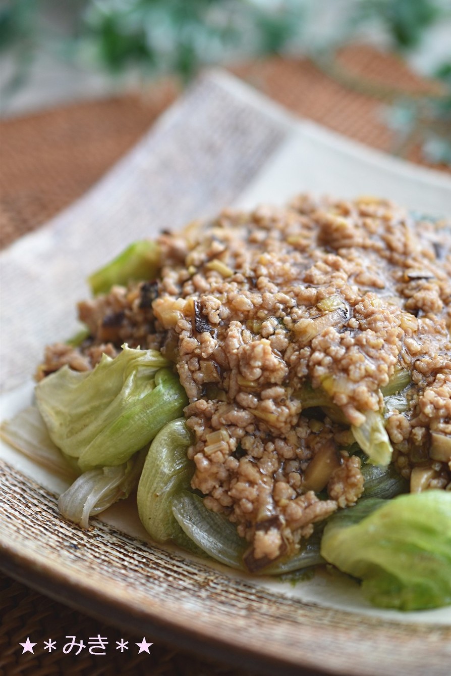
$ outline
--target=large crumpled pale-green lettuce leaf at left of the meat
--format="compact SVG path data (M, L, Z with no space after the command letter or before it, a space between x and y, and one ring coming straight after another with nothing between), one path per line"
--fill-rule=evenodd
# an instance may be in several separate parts
M36 386L49 435L82 472L127 462L182 414L186 394L169 362L155 350L124 345L94 370L60 368Z

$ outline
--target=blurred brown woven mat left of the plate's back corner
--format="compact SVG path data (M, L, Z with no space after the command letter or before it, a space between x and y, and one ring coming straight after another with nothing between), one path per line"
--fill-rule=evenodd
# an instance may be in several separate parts
M55 108L0 124L1 245L83 195L174 100L170 87Z

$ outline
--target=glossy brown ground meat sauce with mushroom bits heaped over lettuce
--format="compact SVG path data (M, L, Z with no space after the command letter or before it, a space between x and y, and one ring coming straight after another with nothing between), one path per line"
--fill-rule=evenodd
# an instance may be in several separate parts
M173 360L190 401L192 487L236 523L250 569L359 500L350 425L369 411L385 415L411 490L451 488L449 222L301 195L227 210L159 247L159 280L80 303L90 337L49 347L41 375L92 368L123 343Z

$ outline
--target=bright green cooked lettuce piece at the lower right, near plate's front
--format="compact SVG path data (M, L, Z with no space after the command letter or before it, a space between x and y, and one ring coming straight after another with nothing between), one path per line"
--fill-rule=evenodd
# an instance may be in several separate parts
M321 555L362 580L375 606L398 610L451 603L451 493L428 490L369 499L329 519Z

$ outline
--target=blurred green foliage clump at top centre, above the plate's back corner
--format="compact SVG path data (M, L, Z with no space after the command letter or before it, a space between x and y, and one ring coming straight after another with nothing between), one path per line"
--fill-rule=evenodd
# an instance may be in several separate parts
M84 49L113 72L140 66L190 79L224 57L282 49L302 26L302 0L94 0Z

